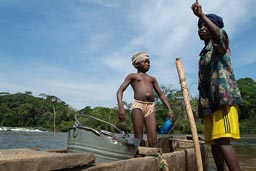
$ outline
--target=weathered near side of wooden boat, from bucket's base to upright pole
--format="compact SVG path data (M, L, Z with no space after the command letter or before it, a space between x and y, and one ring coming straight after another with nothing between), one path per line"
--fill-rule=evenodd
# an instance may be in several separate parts
M197 171L193 148L173 153L164 153L162 154L162 159L166 160L169 171ZM159 166L157 157L147 156L109 163L100 163L82 171L158 171Z

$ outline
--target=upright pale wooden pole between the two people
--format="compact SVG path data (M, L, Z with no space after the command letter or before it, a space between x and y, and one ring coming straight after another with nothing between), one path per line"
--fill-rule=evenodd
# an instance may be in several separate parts
M186 78L185 78L185 75L184 75L184 72L182 69L182 64L181 64L180 58L176 58L176 67L177 67L177 71L178 71L178 75L179 75L179 79L180 79L181 90L182 90L184 103L185 103L185 107L186 107L186 111L187 111L187 115L188 115L188 119L189 119L191 132L192 132L195 153L196 153L197 169L198 169L198 171L203 171L202 156L201 156L201 151L200 151L200 144L199 144L199 140L198 140L195 119L194 119L194 115L193 115L192 108L191 108L190 101L189 101Z

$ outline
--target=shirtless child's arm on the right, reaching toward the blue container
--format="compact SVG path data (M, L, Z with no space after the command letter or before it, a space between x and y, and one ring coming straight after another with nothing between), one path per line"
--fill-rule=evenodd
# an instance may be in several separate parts
M174 115L173 115L173 111L172 111L171 105L170 105L169 101L167 100L167 98L165 97L165 95L162 92L162 90L160 89L160 87L158 85L158 82L157 82L157 80L155 78L154 78L153 87L154 87L154 90L156 91L156 93L158 94L160 100L163 102L163 104L168 109L168 116L170 117L172 123L174 123Z

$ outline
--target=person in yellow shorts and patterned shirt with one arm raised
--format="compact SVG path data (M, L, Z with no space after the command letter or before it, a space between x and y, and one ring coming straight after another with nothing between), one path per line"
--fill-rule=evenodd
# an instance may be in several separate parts
M239 162L230 144L240 139L238 109L241 95L231 65L229 39L222 18L204 14L198 3L192 5L199 18L198 35L205 47L199 59L199 108L206 143L211 144L217 170L239 171Z

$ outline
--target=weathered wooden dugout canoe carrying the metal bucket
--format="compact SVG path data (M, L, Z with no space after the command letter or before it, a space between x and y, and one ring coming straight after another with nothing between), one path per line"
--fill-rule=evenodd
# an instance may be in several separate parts
M162 148L138 147L130 159L95 163L95 154L67 150L0 150L0 170L4 171L197 171L193 142L188 139L159 138ZM165 151L168 150L169 152ZM207 151L201 143L204 170ZM206 152L206 153L205 153ZM166 168L162 168L166 164Z

